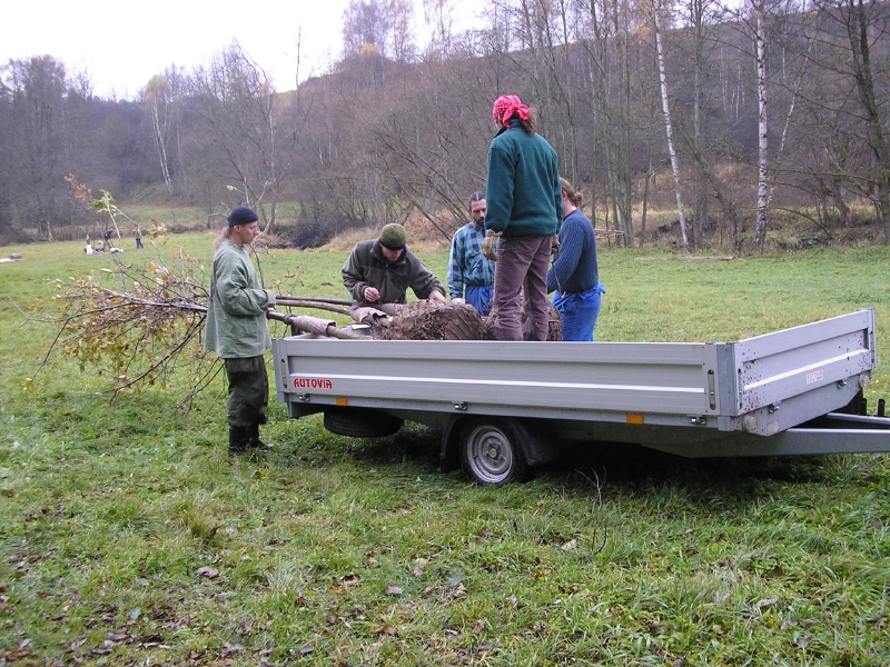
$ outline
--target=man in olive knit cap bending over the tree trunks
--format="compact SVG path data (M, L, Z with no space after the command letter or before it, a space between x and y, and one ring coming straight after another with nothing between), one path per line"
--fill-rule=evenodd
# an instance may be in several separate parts
M418 299L445 302L445 288L408 250L402 225L386 225L379 238L356 243L342 272L354 309L406 303L408 288Z

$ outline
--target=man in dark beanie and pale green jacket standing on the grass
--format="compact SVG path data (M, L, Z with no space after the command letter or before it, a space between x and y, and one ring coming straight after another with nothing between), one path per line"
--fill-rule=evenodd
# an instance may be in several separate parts
M210 300L204 349L222 359L229 381L226 420L229 455L265 449L259 425L266 424L269 377L264 352L271 347L266 312L275 310L275 295L263 289L244 247L259 236L256 212L239 206L214 246Z

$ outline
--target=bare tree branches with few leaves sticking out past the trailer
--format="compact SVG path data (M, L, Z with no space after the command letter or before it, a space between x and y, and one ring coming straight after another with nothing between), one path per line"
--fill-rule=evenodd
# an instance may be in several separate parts
M136 267L115 257L113 268L57 280L57 293L31 307L36 319L58 327L38 374L53 367L57 359L73 358L81 372L95 372L108 381L112 398L142 387L172 388L188 378L181 401L187 407L222 368L215 355L202 350L206 282L201 263L187 256L175 268L160 260ZM348 315L352 303L288 296L276 300L278 308L340 315ZM287 316L276 319L287 320Z

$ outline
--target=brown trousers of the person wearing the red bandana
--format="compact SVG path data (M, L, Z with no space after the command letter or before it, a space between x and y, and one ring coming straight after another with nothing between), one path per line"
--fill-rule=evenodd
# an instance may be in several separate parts
M547 339L547 267L552 235L501 237L494 272L497 340ZM520 311L525 292L525 325Z

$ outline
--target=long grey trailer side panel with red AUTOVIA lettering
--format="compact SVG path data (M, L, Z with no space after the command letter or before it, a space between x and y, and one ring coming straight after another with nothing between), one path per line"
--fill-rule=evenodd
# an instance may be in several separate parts
M716 349L701 344L276 340L279 398L428 409L715 415ZM367 404L370 405L370 404Z

